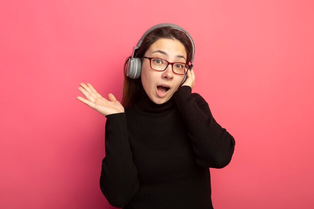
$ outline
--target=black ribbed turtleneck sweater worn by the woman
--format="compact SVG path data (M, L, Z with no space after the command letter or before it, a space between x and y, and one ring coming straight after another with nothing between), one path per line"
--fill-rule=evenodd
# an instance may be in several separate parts
M106 116L100 188L111 205L213 208L209 167L226 166L235 141L191 91L183 86L158 105L142 90L137 104Z

